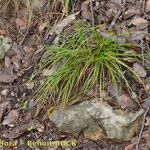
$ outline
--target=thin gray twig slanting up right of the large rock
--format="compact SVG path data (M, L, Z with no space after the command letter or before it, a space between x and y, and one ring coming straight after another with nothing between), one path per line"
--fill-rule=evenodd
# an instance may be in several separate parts
M142 133L143 133L143 129L144 129L145 119L146 119L146 116L147 116L147 113L148 113L149 109L150 109L150 107L148 107L147 110L144 113L142 127L141 127L139 138L138 138L138 141L137 141L137 144L136 144L136 150L139 150L139 144L140 144L140 140L142 138Z

